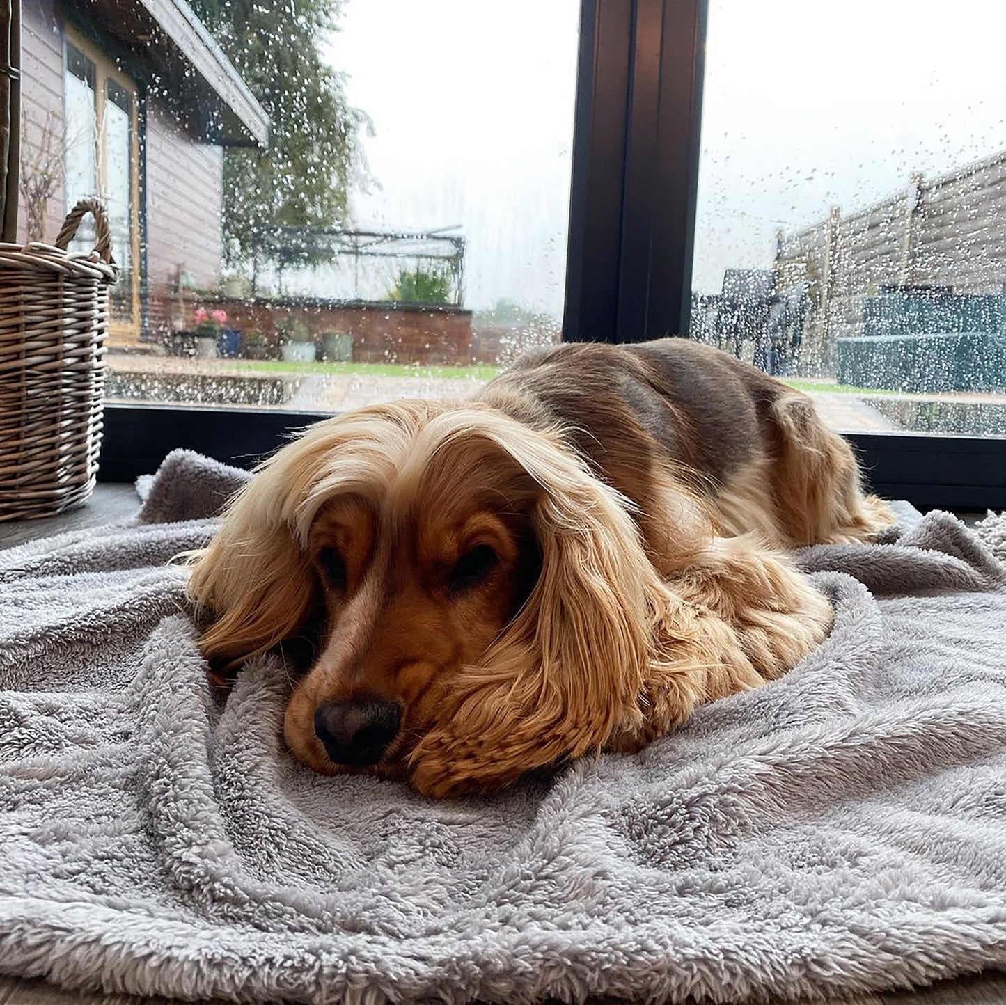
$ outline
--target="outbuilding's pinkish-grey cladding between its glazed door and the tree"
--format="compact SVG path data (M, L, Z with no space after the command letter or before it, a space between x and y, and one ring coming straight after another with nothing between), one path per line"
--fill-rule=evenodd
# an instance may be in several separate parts
M199 143L173 113L147 106L147 283L156 297L178 282L179 270L197 287L219 281L223 151Z

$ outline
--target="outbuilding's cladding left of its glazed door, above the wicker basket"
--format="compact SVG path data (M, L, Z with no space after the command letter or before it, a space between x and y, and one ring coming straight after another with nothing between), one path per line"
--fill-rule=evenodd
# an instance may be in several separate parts
M21 89L21 171L29 174L37 171L39 163L45 160L44 151L39 154L40 146L45 144L62 163L62 28L51 0L25 0L21 19L21 72L26 81ZM62 179L57 173L45 207L45 240L55 240L65 208ZM19 241L27 237L27 209L22 190L17 214Z

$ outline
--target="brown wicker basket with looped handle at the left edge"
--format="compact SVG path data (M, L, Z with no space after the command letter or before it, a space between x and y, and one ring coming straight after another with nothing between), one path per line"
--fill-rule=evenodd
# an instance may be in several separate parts
M65 250L94 213L98 246ZM109 222L78 202L55 246L0 243L0 521L52 516L95 487L102 443Z

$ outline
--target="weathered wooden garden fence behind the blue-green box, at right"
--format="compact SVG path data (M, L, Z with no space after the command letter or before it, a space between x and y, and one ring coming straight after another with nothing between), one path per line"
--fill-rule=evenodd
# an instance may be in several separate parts
M863 334L864 305L883 286L1000 293L1006 284L1006 153L859 213L784 236L779 283L811 283L800 372L833 375L835 339Z

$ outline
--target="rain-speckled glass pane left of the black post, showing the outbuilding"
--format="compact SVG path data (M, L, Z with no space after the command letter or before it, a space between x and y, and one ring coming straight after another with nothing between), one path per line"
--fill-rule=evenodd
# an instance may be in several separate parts
M93 192L97 170L116 257L140 274L139 332L114 333L107 357L111 400L333 411L456 396L558 339L578 0L190 2L218 44L193 31L178 60L155 33L129 67L112 8L89 14L85 55L110 81L104 153L83 160L94 132L67 144L65 196ZM43 9L26 4L26 22ZM32 23L37 60L60 30ZM128 95L111 83L124 72L147 83L139 256ZM93 130L94 91L61 76L67 129L87 109Z

